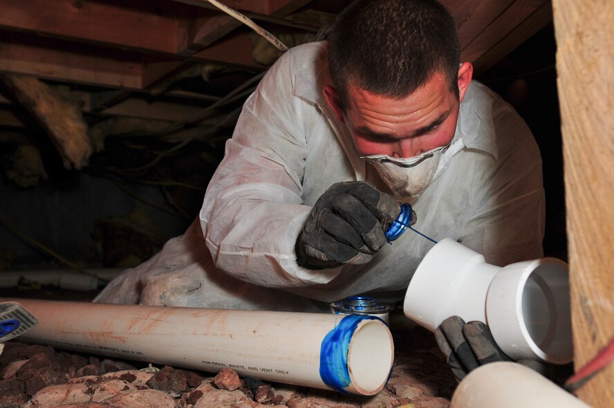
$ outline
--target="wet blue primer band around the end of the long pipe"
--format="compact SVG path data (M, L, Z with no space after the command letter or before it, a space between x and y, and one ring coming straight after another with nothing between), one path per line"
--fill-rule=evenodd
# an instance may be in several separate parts
M368 315L347 315L329 331L320 348L320 378L324 384L342 393L351 384L348 350L356 327L362 320L382 320Z

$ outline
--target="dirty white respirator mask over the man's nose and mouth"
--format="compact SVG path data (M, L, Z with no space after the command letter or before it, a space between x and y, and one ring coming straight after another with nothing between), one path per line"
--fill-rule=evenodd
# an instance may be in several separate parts
M439 159L448 145L436 147L409 158L393 158L385 154L362 156L378 171L384 183L396 196L415 200L433 181Z

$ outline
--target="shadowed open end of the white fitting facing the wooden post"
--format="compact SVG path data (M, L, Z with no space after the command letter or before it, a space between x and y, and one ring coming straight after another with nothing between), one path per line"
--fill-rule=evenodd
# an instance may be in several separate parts
M545 261L525 281L522 316L534 351L550 362L568 362L572 355L568 270Z

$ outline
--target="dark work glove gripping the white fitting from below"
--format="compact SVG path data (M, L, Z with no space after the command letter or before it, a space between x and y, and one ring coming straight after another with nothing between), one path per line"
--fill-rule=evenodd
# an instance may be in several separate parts
M435 340L459 381L483 364L512 361L496 344L490 328L483 322L465 323L461 317L448 317L436 329ZM573 364L558 366L530 359L517 362L559 385L573 373Z

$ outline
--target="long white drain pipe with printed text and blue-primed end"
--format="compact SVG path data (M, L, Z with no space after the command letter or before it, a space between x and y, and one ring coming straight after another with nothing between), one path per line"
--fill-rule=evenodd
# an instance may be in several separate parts
M12 300L39 323L19 337L61 349L373 395L392 335L371 316Z

